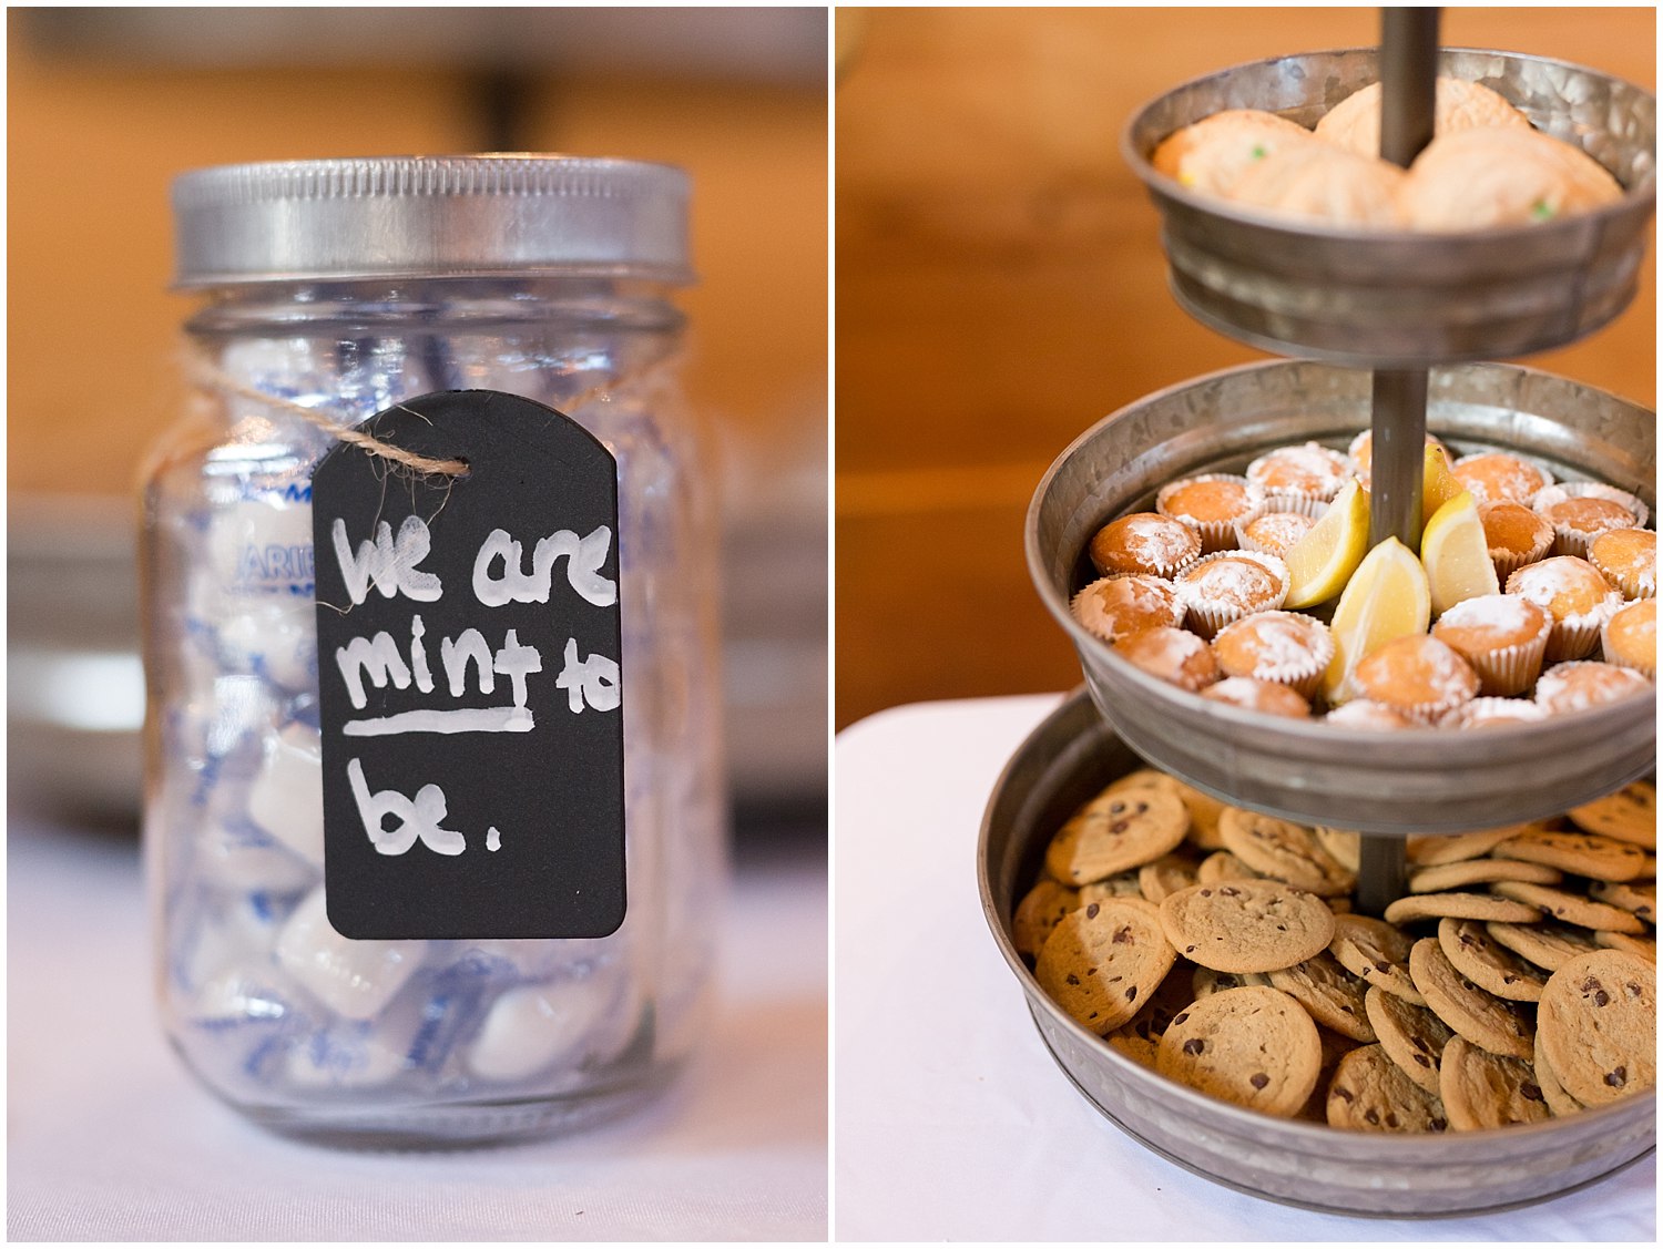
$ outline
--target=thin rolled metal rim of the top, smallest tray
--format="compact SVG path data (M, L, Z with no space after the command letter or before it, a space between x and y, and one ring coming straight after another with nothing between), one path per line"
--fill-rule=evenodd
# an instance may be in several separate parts
M1655 210L1656 173L1645 178L1635 186L1625 186L1621 200L1616 200L1608 205L1600 205L1598 208L1587 213L1577 213L1573 216L1563 216L1555 221L1543 221L1540 225L1490 226L1487 230L1460 230L1460 231L1357 230L1347 226L1335 226L1317 220L1304 221L1300 218L1290 218L1287 215L1271 213L1266 210L1237 205L1231 200L1221 200L1211 195L1199 195L1184 186L1176 178L1167 178L1164 173L1156 170L1154 165L1149 163L1147 156L1144 156L1144 153L1139 151L1137 145L1133 141L1133 133L1137 130L1137 125L1147 113L1159 108L1166 100L1177 95L1179 91L1199 86L1201 83L1206 83L1212 78L1222 78L1224 75L1239 73L1241 70L1252 70L1261 65L1276 65L1277 62L1299 60L1302 57L1332 57L1344 53L1367 53L1367 52L1375 52L1375 48L1320 48L1315 52L1295 52L1282 57L1264 57L1262 60L1242 62L1241 65L1231 65L1224 70L1202 73L1196 78L1191 78L1189 81L1179 83L1177 86L1162 91L1154 100L1147 101L1139 110L1136 110L1131 120L1121 128L1121 140L1119 140L1121 160L1124 160L1131 166L1133 173L1136 173L1137 178L1142 183L1146 183L1151 191L1159 191L1162 196L1174 200L1197 213L1207 213L1224 221L1236 221L1244 226L1254 226L1259 230L1284 234L1287 238L1312 238L1312 236L1330 238L1335 243L1345 243L1352 246L1369 246L1369 244L1380 244L1392 248L1414 246L1414 244L1435 246L1438 243L1447 243L1447 241L1458 241L1463 246L1470 246L1473 243L1492 243L1495 246L1503 246L1512 239L1525 236L1542 238L1543 234L1547 234L1548 238L1552 238L1555 233L1563 233L1568 236L1578 230L1582 231L1588 230L1590 225L1598 225L1603 228L1606 221L1616 220L1618 216L1626 216L1636 208L1646 208L1648 211ZM1653 105L1656 103L1656 98L1651 95L1651 91L1635 86L1626 80L1615 78L1610 73L1588 68L1587 65L1577 65L1575 62L1555 60L1553 57L1535 57L1520 52L1500 52L1493 48L1442 48L1442 52L1472 53L1475 57L1502 57L1517 62L1533 62L1538 65L1550 65L1560 70L1573 70L1577 73L1587 73L1595 78L1603 78L1605 81L1621 81L1625 86L1630 86L1631 90L1638 91L1648 100L1653 100ZM1234 334L1236 331L1231 329L1231 333Z

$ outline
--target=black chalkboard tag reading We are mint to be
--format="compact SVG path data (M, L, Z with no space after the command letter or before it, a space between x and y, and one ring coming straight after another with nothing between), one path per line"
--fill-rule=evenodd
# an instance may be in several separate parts
M313 474L324 896L343 936L624 921L617 462L562 412L444 391Z

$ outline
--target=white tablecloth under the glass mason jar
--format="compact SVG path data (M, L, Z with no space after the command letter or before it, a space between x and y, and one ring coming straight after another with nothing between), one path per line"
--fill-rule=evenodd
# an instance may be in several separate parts
M652 1108L567 1139L361 1153L210 1098L150 1000L131 843L13 818L13 1241L823 1241L827 876L735 878L707 1043Z

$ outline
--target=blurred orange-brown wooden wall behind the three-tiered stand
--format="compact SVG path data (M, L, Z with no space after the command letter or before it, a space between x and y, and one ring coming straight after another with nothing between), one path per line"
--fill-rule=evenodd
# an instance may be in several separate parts
M1061 690L1028 580L1041 474L1108 412L1261 358L1177 309L1118 155L1142 101L1239 62L1379 42L1375 8L838 10L836 722ZM1655 90L1651 8L1445 8L1445 45ZM1532 364L1655 406L1655 248L1616 321Z

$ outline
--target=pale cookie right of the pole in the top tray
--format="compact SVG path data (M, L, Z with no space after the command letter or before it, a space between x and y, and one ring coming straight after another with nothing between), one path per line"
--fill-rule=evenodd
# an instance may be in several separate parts
M1409 170L1399 203L1412 230L1490 230L1555 221L1623 198L1582 148L1540 130L1438 135Z

